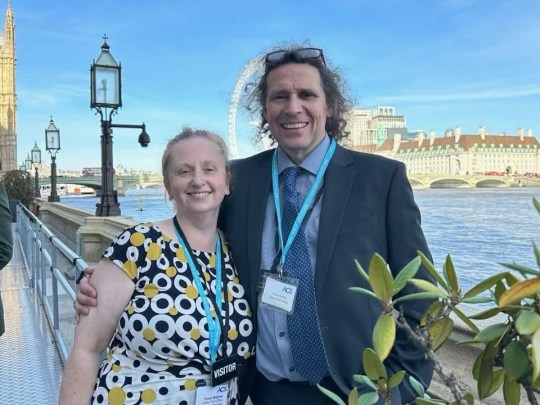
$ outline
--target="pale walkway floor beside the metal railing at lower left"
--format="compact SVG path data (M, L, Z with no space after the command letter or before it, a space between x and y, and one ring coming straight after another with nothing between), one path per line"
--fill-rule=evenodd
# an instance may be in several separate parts
M12 225L13 259L0 271L6 322L6 333L0 337L0 404L55 404L62 359L43 303L37 290L30 288L16 226Z

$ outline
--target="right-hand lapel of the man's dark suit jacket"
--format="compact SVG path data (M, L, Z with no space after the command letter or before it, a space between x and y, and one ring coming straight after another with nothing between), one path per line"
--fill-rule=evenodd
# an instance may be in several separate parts
M356 172L347 169L347 166L352 162L353 159L349 152L338 146L324 177L315 272L315 294L317 297L322 294L338 231L344 220L345 209L349 203L349 196L354 184Z

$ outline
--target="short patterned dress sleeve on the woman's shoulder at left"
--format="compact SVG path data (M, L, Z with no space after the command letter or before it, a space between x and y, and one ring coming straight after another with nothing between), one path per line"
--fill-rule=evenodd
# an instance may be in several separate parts
M111 260L136 282L145 266L149 250L155 250L155 229L150 224L139 224L118 233L102 257Z

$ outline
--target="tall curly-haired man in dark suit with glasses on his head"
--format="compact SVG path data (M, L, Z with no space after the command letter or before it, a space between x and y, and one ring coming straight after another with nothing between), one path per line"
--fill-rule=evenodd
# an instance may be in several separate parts
M368 268L379 253L397 272L417 250L429 257L420 213L402 163L335 144L346 136L347 101L321 49L266 55L251 101L278 148L233 162L233 192L220 214L257 308L250 398L256 405L333 404L315 383L346 398L380 315L376 300L349 291L365 286L354 260ZM430 279L424 269L417 277ZM89 291L86 283L81 289ZM417 324L428 304L403 309ZM386 364L429 385L432 365L400 332ZM414 397L402 384L393 403Z

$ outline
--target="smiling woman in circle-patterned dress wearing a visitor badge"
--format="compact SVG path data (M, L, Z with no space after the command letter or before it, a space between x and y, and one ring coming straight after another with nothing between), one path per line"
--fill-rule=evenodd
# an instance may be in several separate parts
M176 215L122 231L103 254L92 276L99 302L77 325L60 404L238 403L235 371L254 336L217 230L227 158L208 131L184 128L169 141L162 173Z

